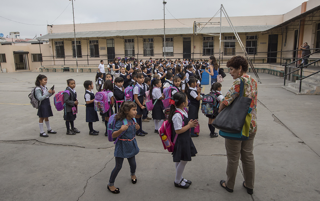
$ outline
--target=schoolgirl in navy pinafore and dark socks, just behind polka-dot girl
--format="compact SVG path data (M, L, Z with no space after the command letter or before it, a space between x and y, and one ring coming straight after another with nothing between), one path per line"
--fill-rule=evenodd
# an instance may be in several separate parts
M134 87L132 89L134 100L137 104L137 115L136 120L140 126L140 129L137 130L136 135L138 136L145 136L148 134L147 132L142 130L142 115L145 113L146 107L142 104L144 104L144 96L146 94L146 88L143 86L144 77L142 73L138 73L136 77L136 81L134 83Z

